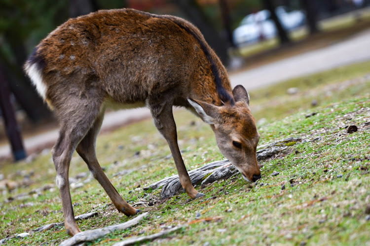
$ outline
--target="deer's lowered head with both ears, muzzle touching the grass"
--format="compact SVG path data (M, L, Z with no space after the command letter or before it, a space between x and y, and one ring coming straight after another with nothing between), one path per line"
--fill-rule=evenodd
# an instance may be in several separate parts
M256 149L259 133L249 109L249 95L243 86L232 91L235 104L215 106L189 99L204 122L209 123L216 135L221 153L239 170L248 182L260 178Z

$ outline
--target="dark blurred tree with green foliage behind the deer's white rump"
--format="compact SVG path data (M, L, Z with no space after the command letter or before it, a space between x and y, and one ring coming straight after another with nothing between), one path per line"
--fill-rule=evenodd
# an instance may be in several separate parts
M56 15L61 6L63 4L50 3L48 0L0 2L0 59L4 63L4 73L10 82L11 92L34 122L50 113L29 79L24 76L22 67L29 53L27 44L34 47L40 37L54 28L55 16L63 18L63 15Z

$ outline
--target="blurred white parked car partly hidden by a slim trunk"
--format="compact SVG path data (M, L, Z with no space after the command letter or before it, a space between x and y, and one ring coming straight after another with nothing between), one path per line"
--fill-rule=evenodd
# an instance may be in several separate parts
M301 10L288 12L285 6L279 6L275 9L275 13L287 31L302 26L306 21L306 15ZM239 27L233 31L235 44L243 46L258 42L260 39L275 37L277 30L270 16L270 11L264 9L244 17Z

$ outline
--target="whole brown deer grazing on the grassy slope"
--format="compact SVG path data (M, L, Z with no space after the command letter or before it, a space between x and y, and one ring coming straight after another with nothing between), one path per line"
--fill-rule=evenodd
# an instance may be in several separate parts
M37 45L25 71L60 124L52 156L70 235L80 232L68 181L74 150L119 212L140 212L121 198L95 155L104 112L112 104L150 109L191 198L203 194L191 184L179 151L174 105L211 125L222 154L245 180L260 178L259 133L248 93L242 86L231 90L220 59L200 31L181 18L117 9L70 19Z

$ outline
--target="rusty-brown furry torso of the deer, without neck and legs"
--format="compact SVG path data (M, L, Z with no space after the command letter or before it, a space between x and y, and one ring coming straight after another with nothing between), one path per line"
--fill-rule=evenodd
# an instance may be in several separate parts
M194 57L202 56L194 37L170 19L120 9L68 20L41 41L31 59L39 63L51 102L58 99L54 88L70 93L94 88L132 103L156 91L185 88L179 84L188 83L199 63Z

